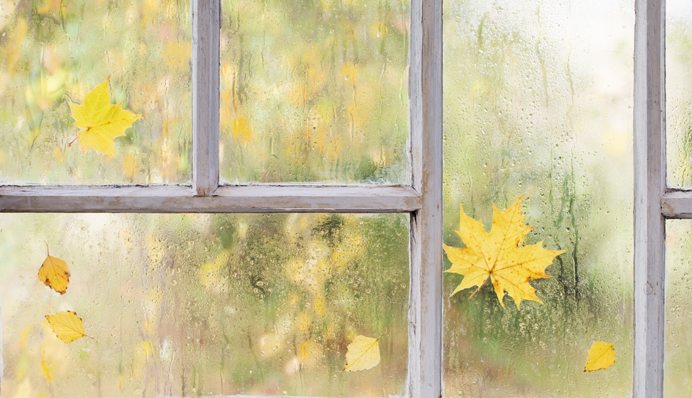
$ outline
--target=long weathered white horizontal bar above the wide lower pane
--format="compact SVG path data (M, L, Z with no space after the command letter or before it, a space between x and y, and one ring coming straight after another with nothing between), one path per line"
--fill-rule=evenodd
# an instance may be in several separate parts
M212 196L182 185L0 187L0 212L406 213L420 204L420 194L402 186L233 186Z

